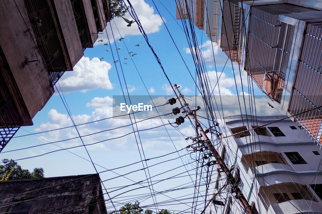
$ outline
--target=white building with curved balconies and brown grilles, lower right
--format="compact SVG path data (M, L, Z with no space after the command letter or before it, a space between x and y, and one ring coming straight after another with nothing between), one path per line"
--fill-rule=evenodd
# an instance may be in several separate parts
M282 118L285 116L224 118L225 135L238 134L223 139L218 151L225 163L234 167L232 173L241 181L239 186L255 213L322 213L322 152L298 123L277 121ZM206 213L243 213L230 185L224 186L225 174L213 171L209 197L223 193L215 197L217 201L210 203Z

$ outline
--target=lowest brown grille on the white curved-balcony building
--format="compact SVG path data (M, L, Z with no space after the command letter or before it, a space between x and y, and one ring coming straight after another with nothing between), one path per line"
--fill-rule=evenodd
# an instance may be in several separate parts
M317 201L308 187L299 183L278 183L260 187L259 195L265 207L270 204L282 203L290 200Z

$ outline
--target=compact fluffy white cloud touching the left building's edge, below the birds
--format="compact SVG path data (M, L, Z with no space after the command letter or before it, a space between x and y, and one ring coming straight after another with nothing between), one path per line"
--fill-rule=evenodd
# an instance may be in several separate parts
M109 70L111 64L100 61L94 57L82 57L74 66L73 71L67 71L59 80L59 84L64 92L81 91L86 92L91 89L113 89L109 81Z

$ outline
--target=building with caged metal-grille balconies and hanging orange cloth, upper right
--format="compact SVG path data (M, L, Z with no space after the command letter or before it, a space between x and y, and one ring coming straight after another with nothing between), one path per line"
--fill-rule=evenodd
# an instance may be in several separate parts
M322 2L207 0L205 8L210 40L321 148Z

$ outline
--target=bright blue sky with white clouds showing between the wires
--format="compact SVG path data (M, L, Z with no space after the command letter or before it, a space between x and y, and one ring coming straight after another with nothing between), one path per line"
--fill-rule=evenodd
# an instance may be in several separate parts
M180 28L181 21L174 20L172 16L175 16L175 2L174 1L166 1L163 4L168 11L160 4L158 0L155 0L156 6L159 9L162 17L164 18L166 25L173 36L175 43L182 54L186 64L188 65L192 74L195 74L195 67L192 60L192 56L186 49L188 48L188 44L184 35L184 32ZM149 0L136 0L133 1L133 7L137 10L138 17L142 22L143 27L148 32L148 39L156 54L161 60L161 63L168 75L172 84L181 85L181 90L185 92L185 95L195 95L195 87L194 81L189 75L184 62L182 61L177 49L175 48L165 25L160 19L155 7L152 6L153 3ZM126 17L129 17L127 14ZM128 85L128 89L130 95L147 95L147 91L142 84L140 77L138 76L137 70L134 64L129 60L128 51L125 46L128 47L129 51L133 51L133 53L137 53L133 57L133 61L144 81L148 90L153 95L164 95L165 99L168 99L173 95L171 90L169 90L169 83L163 74L160 66L158 65L156 59L154 58L150 48L145 42L144 38L140 34L137 29L137 25L133 24L131 27L127 27L126 23L121 18L116 18L115 20L116 26L121 31L122 36L125 39L121 42L118 42L118 38L120 37L116 27L114 27L114 22L111 21L112 29L114 36L116 37L116 41L112 41L111 39L111 28L107 27L107 31L109 32L109 39L111 40L111 44L108 46L103 45L107 42L107 37L105 34L99 34L99 39L103 36L103 42L96 42L94 48L88 48L84 52L84 58L75 66L74 71L66 72L61 80L59 81L62 86L62 91L68 103L69 109L76 124L90 122L93 120L98 120L106 117L112 116L112 102L111 98L113 95L122 95L122 90L119 84L118 75L116 67L113 63L112 51L114 56L117 55L115 44L117 47L120 47L118 54L120 56L120 62L116 64L118 68L119 75L121 75L121 83L123 89L125 88L122 71L120 65L122 65L122 69L124 72L124 76ZM208 37L205 35L203 31L199 29L195 29L198 43L201 49L204 51L204 58L206 59L206 65L208 71L213 71L209 73L210 78L212 78L213 83L216 82L215 79L215 68L213 67L213 56L212 56L212 48L211 42ZM124 43L123 43L124 42ZM135 45L140 42L140 46L136 47ZM226 55L213 44L215 49L215 59L217 65L217 71L221 72L223 69L223 64L226 61ZM106 51L109 49L109 52ZM128 57L128 60L124 60L125 57ZM103 58L102 62L99 62L99 58ZM208 61L207 61L208 60ZM126 62L127 64L124 64ZM120 64L121 63L121 64ZM77 68L76 68L77 67ZM236 81L238 85L238 93L236 92L235 82L232 74L232 66L231 63L228 62L228 65L224 68L223 76L219 82L220 89L223 95L230 94L240 94L241 93L241 77L239 76L239 70L237 65L234 66L236 71ZM242 73L242 79L247 80L247 76ZM244 81L245 82L245 81ZM57 84L58 87L58 84ZM151 87L153 90L151 90ZM245 87L247 88L247 87ZM254 87L255 94L262 95L258 88ZM152 93L153 92L153 93ZM217 90L214 90L217 95ZM199 93L197 93L199 94ZM226 103L229 105L229 99ZM261 98L259 98L261 99ZM236 104L236 103L234 103ZM201 106L201 103L197 103L197 105ZM260 105L267 108L268 105L265 102L261 102ZM233 104L231 103L231 107ZM171 106L170 106L171 107ZM170 108L169 107L169 108ZM238 114L240 110L236 107L229 109L227 106L227 111L225 111L224 116L229 116L231 114ZM170 108L172 109L172 107ZM229 109L229 111L228 111ZM226 110L226 108L224 108ZM270 111L270 114L279 114L277 111L267 108L267 111ZM267 113L267 112L266 112ZM164 120L167 122L167 120ZM206 124L206 121L203 121ZM71 126L71 120L67 114L67 111L62 103L62 100L59 95L54 94L52 98L48 101L46 106L38 112L38 114L33 119L33 126L30 127L22 127L16 134L16 136L21 136L28 134L27 131L31 133L46 131L51 129L62 128L66 126ZM87 135L94 132L99 132L106 129L116 128L118 126L130 124L129 120L117 120L117 119L109 119L104 120L102 122L93 123L91 125L80 126L79 130L81 135ZM147 122L139 123L138 129L147 129L161 125L162 122L160 120L148 120ZM173 127L167 125L167 131L169 132L171 139L168 137L168 134L164 127L160 127L157 129L153 129L151 131L142 131L140 132L140 138L142 142L142 147L145 153L146 158L151 158L155 156L160 156L163 154L171 153L176 149L181 149L186 147L188 144L185 141L185 137L183 137L178 130ZM132 127L126 127L122 129L116 129L113 131L106 131L101 134L95 134L89 137L84 137L84 143L90 144L93 142L98 142L101 140L106 140L113 137L121 136L122 134L129 133L133 131ZM181 133L185 136L195 135L194 130L191 128L191 125L188 123L182 124L179 127ZM77 137L77 133L74 128L62 129L60 131L53 131L49 133L37 134L38 137L25 136L14 138L10 141L10 143L5 147L5 151L14 150L18 148L24 148L34 145L39 145L46 143L45 140L49 142L60 141L64 139L69 139L73 137ZM43 139L41 139L43 138ZM138 139L138 136L137 136ZM138 140L139 141L139 140ZM64 142L58 142L56 145L59 145L63 148L82 145L79 138L74 140L68 140ZM143 151L141 149L140 142L138 142L141 155L143 156ZM174 147L175 145L175 147ZM108 169L115 168L118 166L130 164L136 161L140 161L140 155L138 152L136 140L134 134L130 134L123 138L118 138L116 140L109 140L106 142L102 142L99 144L95 144L87 147L89 153L93 159L93 162L104 166ZM1 154L2 158L12 158L19 159L23 157L30 157L41 155L46 152L50 152L53 150L60 149L52 144L43 145L39 147L34 147L32 149L25 149L21 151L14 151ZM87 153L83 147L70 149L71 152L88 159ZM180 154L185 155L186 150L183 150ZM169 160L171 158L177 158L178 154L172 154L170 156L166 156L164 158L151 160L148 162L148 165L152 165L153 163L159 163L161 161ZM144 158L143 158L144 159ZM183 165L183 163L187 164L189 162L193 162L189 155L182 157L182 159L178 158L173 161L166 162L161 165L157 165L151 167L150 175L156 175L160 172L164 172L166 170L173 169L175 167ZM95 173L95 170L92 164L74 154L71 154L67 151L58 151L53 152L48 155L34 157L30 159L20 160L18 161L24 168L33 169L34 167L43 167L45 170L46 177L52 176L64 176L64 175L75 175L75 174L90 174ZM195 163L191 165L187 165L187 169L193 169ZM125 174L131 172L136 169L142 168L142 164L136 164L131 167L125 167L116 172L119 174ZM97 167L98 171L103 171L102 167ZM185 172L185 168L181 167L176 170L173 170L169 173L162 174L156 176L152 180L165 179L167 177L171 177L175 174ZM195 177L195 170L190 171L190 174ZM187 174L182 174L187 175ZM109 179L115 174L112 172L102 173L100 174L102 180ZM128 175L128 178L134 181L141 181L145 179L144 171L139 171L134 174ZM185 176L183 178L172 179L168 181L164 181L154 185L154 189L156 191L163 191L166 189L173 188L175 186L191 182L189 176ZM126 184L131 184L132 181L129 181L126 178L118 178L113 179L108 182L104 182L106 188L112 188L117 186L122 186ZM191 184L190 184L191 185ZM117 192L117 191L116 191ZM115 195L116 192L111 193L111 195ZM118 193L122 192L120 190ZM193 188L186 189L184 191L175 191L167 193L169 197L179 197L185 194L191 194L194 192ZM142 188L133 192L129 192L124 194L126 195L134 195L134 194L142 194L142 193L150 193L150 190L147 188ZM123 196L123 195L121 195ZM163 201L169 199L167 196L159 195L156 197L157 201ZM105 199L107 197L105 196ZM124 198L122 199L124 200ZM124 200L126 201L126 200ZM189 200L187 200L189 202ZM149 198L146 201L141 202L141 205L148 205L153 203L152 199ZM109 205L109 204L108 204ZM191 204L190 204L191 205ZM168 205L163 208L170 209L175 205ZM202 207L202 206L200 206ZM178 205L172 209L174 210L185 210L187 209L187 205ZM109 209L111 210L111 209Z

